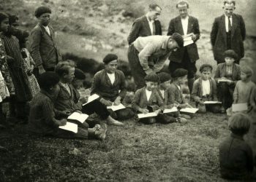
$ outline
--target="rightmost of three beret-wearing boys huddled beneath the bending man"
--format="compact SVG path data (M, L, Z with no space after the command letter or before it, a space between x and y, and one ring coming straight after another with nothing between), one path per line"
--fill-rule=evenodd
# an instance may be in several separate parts
M178 68L173 72L172 77L173 82L166 90L165 105L173 105L177 108L192 108L192 106L190 106L189 103L187 103L187 101L184 99L182 93L182 85L187 82L187 70L184 68ZM187 114L181 114L181 117L191 119L191 116Z

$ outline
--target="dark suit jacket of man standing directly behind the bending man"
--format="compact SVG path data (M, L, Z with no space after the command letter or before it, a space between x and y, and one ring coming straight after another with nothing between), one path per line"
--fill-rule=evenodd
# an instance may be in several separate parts
M162 27L159 20L155 20L155 28L156 28L156 35L162 35ZM132 30L129 33L129 36L127 38L128 43L132 44L133 41L135 41L139 36L151 36L151 30L148 24L148 19L144 15L143 17L139 17L135 20L135 22L132 24Z

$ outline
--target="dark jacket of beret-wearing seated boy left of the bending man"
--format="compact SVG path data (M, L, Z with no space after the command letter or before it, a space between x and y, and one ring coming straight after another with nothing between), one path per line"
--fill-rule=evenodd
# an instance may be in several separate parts
M94 75L94 79L91 84L91 95L96 93L100 97L110 100L111 102L116 100L118 96L124 98L127 92L124 79L123 71L116 70L115 82L111 84L107 71L105 69L98 71Z

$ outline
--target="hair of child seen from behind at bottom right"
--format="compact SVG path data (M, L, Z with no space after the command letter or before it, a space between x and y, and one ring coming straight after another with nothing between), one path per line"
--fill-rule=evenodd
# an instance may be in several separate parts
M228 127L236 135L245 135L249 131L249 116L242 113L233 114L228 120Z

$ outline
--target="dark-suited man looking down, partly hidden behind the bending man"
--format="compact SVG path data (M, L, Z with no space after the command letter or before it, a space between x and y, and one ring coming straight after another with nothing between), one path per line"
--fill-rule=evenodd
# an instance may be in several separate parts
M128 43L132 44L139 36L162 35L161 23L158 17L162 8L157 4L150 4L149 11L143 17L139 17L132 24L132 30L128 36Z

